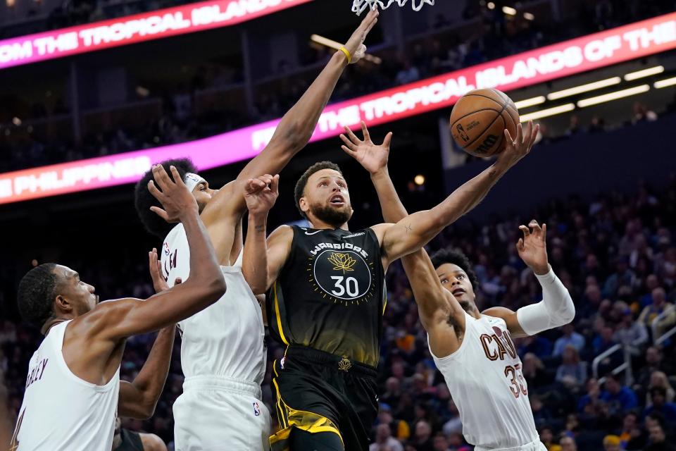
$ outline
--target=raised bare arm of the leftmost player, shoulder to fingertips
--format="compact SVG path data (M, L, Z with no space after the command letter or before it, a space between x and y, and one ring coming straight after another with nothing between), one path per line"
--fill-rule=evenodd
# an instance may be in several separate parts
M151 332L189 318L216 302L225 293L225 279L216 261L211 241L199 218L197 204L176 171L173 179L160 165L153 168L154 179L149 190L161 202L153 211L163 218L180 218L190 247L191 276L171 290L158 293L146 301L120 299L103 302L83 321L95 322L97 331L111 340Z

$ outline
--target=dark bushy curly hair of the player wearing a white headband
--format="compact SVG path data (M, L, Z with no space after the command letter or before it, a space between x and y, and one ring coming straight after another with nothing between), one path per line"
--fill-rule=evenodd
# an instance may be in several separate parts
M167 171L172 180L173 176L169 169L170 166L175 166L181 178L185 178L185 175L189 172L197 172L195 165L187 158L167 160L160 164L164 166L165 171ZM146 172L143 175L143 178L136 184L136 187L134 187L134 206L136 207L136 213L139 215L139 219L146 230L156 237L164 239L174 225L164 221L150 210L151 206L161 207L160 202L155 199L153 194L150 194L150 191L148 190L148 182L150 180L154 180L152 170Z

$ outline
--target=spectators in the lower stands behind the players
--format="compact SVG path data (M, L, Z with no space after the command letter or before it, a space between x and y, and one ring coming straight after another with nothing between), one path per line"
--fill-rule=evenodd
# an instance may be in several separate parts
M542 442L549 451L600 450L602 443L607 451L674 450L676 335L658 345L654 340L676 326L676 176L655 191L641 183L632 195L607 194L591 203L576 197L551 201L534 217L547 223L549 261L577 309L570 325L516 342ZM430 250L453 247L470 257L480 283L480 309L500 305L516 310L542 296L514 247L518 225L527 220L461 221L437 237ZM111 297L150 295L144 262L131 254L122 256L124 262L106 255L105 261L89 259L79 266L76 261L73 266L82 268L83 280L94 281L98 292ZM399 264L389 269L387 288L378 371L380 414L371 451L470 450L456 406L427 350ZM0 322L0 370L12 412L20 406L27 360L40 339L37 330ZM152 335L127 342L124 378L139 371L152 342ZM594 377L593 359L615 344L627 347L632 376L611 374L624 359L618 352L600 362ZM156 433L167 443L173 435L171 406L182 391L179 347L177 342L154 417L125 423ZM282 352L279 344L268 342L263 384L268 404L270 362Z

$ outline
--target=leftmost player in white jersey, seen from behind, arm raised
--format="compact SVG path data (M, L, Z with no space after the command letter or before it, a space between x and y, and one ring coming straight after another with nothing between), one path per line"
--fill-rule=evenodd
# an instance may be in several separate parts
M146 300L99 303L94 287L70 268L42 264L29 271L19 284L18 307L45 338L30 360L12 451L110 451L116 414L148 418L154 412L169 369L173 325L225 292L194 197L175 168L177 183L161 166L153 171L161 191L153 184L149 190L186 230L194 276ZM149 257L157 288L157 257ZM134 383L120 381L127 338L161 328Z

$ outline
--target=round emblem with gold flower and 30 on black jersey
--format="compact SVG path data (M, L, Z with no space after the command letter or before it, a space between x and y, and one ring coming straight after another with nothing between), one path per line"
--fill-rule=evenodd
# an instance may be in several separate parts
M359 249L359 248L358 248ZM361 252L323 249L308 261L310 283L322 297L345 307L368 302L375 296L375 268Z

